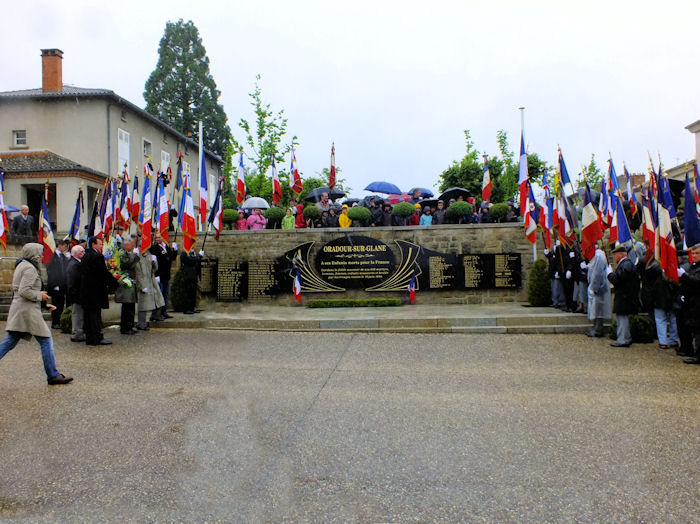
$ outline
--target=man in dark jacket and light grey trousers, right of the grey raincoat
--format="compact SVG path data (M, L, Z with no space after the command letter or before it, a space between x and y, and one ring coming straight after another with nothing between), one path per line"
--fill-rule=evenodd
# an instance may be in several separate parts
M629 317L639 312L639 275L623 245L613 249L613 258L617 267L613 271L612 266L608 266L606 273L615 286L613 313L617 317L617 341L610 345L626 348L632 345Z

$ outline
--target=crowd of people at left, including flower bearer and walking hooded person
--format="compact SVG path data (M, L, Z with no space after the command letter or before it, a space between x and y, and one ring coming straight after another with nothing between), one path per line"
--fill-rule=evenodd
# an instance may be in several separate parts
M68 384L72 377L56 369L51 330L61 329L65 307L71 308L72 342L88 346L112 344L102 332L102 310L109 308L109 294L121 305L119 329L135 335L150 329L151 322L173 318L168 313L170 275L178 257L177 243L169 245L155 232L150 246L141 246L139 237L115 228L108 251L101 236L82 242L59 240L46 264L46 285L41 277L44 245L28 243L16 261L12 281L12 302L8 313L7 337L0 342L0 359L21 339L36 338L41 349L46 378L50 385ZM197 313L197 281L201 254L180 254L183 279L184 313ZM111 262L111 264L110 264ZM42 309L51 312L51 326Z

